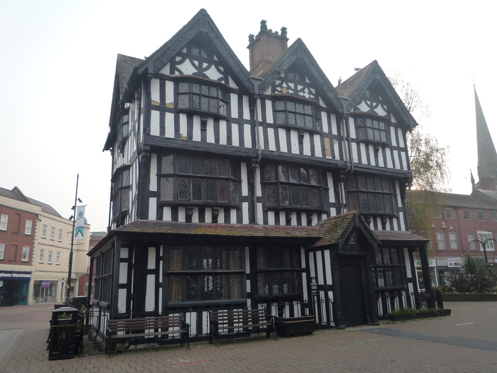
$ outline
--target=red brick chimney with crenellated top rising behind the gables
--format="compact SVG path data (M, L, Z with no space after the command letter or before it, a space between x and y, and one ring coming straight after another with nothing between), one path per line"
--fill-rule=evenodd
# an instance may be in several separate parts
M278 31L267 29L266 21L260 21L260 31L257 36L248 35L248 51L250 55L250 74L259 76L269 65L288 48L286 27Z

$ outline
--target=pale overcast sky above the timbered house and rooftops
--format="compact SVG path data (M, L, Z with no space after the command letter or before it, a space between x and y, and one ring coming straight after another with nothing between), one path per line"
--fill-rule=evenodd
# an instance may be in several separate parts
M495 1L2 1L0 187L69 217L76 175L92 231L108 222L110 153L102 152L118 53L144 58L204 7L248 67L260 20L301 38L331 83L377 60L431 110L414 113L450 148L451 189L477 177L473 84L497 139ZM185 5L187 4L187 5ZM306 4L312 4L306 8Z

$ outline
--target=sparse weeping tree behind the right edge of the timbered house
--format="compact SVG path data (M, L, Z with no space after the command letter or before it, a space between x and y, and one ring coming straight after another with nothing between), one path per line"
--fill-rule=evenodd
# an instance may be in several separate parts
M428 120L429 105L421 99L415 87L398 73L390 78L393 87L414 116ZM406 208L411 230L421 234L430 230L429 216L443 203L441 192L448 191L450 179L446 159L449 150L440 146L435 137L417 126L406 135L413 182L406 193Z

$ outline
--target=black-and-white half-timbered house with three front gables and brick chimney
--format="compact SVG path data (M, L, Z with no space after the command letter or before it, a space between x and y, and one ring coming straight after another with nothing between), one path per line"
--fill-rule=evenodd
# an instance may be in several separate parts
M376 61L334 88L287 41L262 21L247 71L202 9L145 60L118 55L93 307L179 313L202 337L210 309L343 328L417 292L427 240L404 206L414 118Z

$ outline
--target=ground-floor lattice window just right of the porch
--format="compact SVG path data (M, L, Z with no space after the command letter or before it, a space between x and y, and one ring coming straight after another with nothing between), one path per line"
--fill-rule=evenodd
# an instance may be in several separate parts
M381 248L372 266L376 288L404 288L404 256L400 249Z

